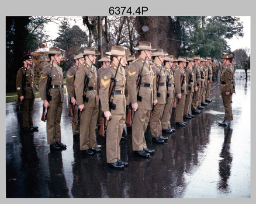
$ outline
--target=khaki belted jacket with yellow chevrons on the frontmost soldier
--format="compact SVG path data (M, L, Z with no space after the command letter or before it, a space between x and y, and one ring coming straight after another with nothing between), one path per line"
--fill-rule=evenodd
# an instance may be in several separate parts
M104 111L111 111L112 114L125 114L126 113L126 97L124 95L125 89L125 70L122 66L119 66L117 73L116 73L117 66L110 64L107 66L101 73L101 87L99 89L99 97L101 99L101 110ZM109 88L111 79L115 77L116 74L116 86L115 91L120 90L122 94L112 94L110 97L110 101L116 104L116 110L109 109ZM112 100L113 99L113 100Z

